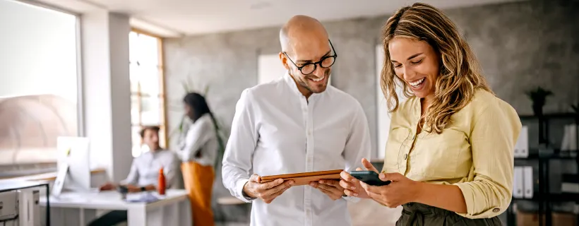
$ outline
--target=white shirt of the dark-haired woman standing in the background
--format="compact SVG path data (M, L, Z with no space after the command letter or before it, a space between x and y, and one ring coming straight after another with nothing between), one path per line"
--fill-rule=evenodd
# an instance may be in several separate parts
M217 133L210 114L203 114L195 121L181 145L179 155L183 162L193 161L205 166L214 166L217 157ZM196 157L196 153L201 157Z

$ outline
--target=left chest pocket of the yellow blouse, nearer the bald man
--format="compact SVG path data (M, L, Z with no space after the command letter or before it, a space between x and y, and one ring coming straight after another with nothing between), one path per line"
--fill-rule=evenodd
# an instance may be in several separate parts
M404 150L406 141L410 137L410 129L404 127L396 127L388 134L388 141L386 142L386 150L384 150L384 169L387 172L398 172L400 167L400 152Z

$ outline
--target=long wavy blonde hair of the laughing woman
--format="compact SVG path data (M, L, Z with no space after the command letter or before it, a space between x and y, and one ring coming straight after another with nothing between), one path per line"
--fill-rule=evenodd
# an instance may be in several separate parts
M438 8L422 3L400 8L394 16L388 18L382 37L385 56L381 88L388 102L389 112L398 109L396 79L402 85L406 97L414 96L407 84L396 76L390 63L388 42L394 37L428 42L440 56L440 73L435 82L434 100L423 117L426 128L430 128L429 132L442 133L449 124L450 117L470 102L475 90L482 88L493 93L482 76L469 45L460 37L455 24Z

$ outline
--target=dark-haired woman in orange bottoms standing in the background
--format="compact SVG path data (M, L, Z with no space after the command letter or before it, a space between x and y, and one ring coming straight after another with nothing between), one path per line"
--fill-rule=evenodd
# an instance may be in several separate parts
M205 97L198 93L188 93L183 98L186 117L193 124L189 126L184 142L181 145L181 171L185 189L189 193L193 211L193 225L213 226L211 210L211 193L217 160L217 132L215 119Z

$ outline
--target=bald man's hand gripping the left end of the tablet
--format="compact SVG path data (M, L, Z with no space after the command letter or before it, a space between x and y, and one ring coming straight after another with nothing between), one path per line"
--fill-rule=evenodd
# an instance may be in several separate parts
M276 179L272 182L260 183L261 177L258 174L251 175L249 182L244 185L244 192L251 198L259 198L265 203L271 203L273 199L280 196L285 190L290 189L294 181L284 182L283 179Z

